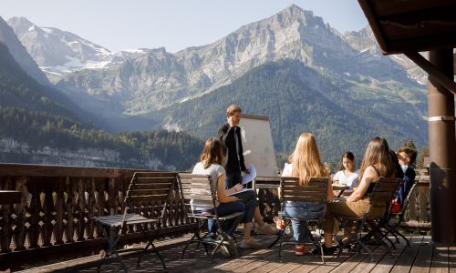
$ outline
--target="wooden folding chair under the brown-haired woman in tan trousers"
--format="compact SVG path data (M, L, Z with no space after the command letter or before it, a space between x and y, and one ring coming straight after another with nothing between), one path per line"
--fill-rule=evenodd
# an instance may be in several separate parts
M372 190L372 193L369 196L369 205L366 208L366 212L363 217L336 217L337 220L340 223L342 223L343 226L346 226L348 222L358 222L358 228L356 232L350 233L350 239L347 240L347 242L345 242L343 246L339 248L337 257L340 256L342 249L345 248L348 244L356 242L360 247L359 250L363 248L367 250L368 254L370 255L370 260L374 261L372 251L370 251L370 249L368 249L368 247L366 247L366 245L363 242L363 240L367 238L376 238L378 243L380 243L383 247L387 248L388 253L391 255L391 251L388 245L382 240L383 236L380 232L382 224L380 224L378 220L381 220L383 217L385 217L391 199L398 192L401 182L402 179L397 177L380 177L378 182L376 182L375 187ZM365 223L367 223L367 221L369 221L369 223L371 223L372 225L376 223L377 225L371 227L369 229L368 235L363 237L363 239L361 238L361 232L365 227ZM351 228L347 229L351 230ZM379 234L379 236L377 236L377 234Z

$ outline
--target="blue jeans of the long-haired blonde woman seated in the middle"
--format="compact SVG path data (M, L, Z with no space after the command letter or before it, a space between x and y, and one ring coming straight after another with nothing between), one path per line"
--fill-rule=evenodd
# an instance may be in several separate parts
M285 202L284 217L296 218L291 221L293 237L297 243L310 240L306 219L321 218L325 215L326 204L314 204L301 201Z

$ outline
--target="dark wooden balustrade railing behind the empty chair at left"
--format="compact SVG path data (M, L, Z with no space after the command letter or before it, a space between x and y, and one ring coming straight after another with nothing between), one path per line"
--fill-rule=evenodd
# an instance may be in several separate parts
M0 190L22 193L21 203L0 206L0 264L15 263L24 254L44 258L84 250L98 253L104 240L92 217L122 213L135 171L0 164ZM158 211L149 208L145 213L153 216ZM175 191L162 234L178 237L192 227ZM123 244L140 238L135 230L125 232Z

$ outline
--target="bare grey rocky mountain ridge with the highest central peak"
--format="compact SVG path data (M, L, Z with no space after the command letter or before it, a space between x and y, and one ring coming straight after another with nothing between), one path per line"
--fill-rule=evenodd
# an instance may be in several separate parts
M229 84L255 66L283 58L322 70L370 73L369 76L380 78L397 78L400 74L396 72L402 69L394 62L378 58L377 62L389 66L388 69L378 66L366 71L360 65L366 65L368 58L359 56L343 35L321 17L291 5L277 15L244 25L211 45L187 48L176 54L164 48L145 51L144 55L132 56L116 66L66 74L57 86L99 115L134 116L201 96Z

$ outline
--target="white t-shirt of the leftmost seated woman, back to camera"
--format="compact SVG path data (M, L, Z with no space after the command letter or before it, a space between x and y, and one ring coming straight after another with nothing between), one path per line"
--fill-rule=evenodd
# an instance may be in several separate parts
M192 174L211 176L213 186L217 189L217 182L219 177L225 174L225 169L218 164L211 164L211 166L204 168L202 162L198 162L195 167L193 167ZM222 181L222 183L224 183L224 181ZM215 201L215 206L218 207L219 204L218 201ZM191 200L190 205L192 206L192 210L208 210L213 208L212 201L209 200Z

